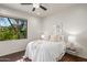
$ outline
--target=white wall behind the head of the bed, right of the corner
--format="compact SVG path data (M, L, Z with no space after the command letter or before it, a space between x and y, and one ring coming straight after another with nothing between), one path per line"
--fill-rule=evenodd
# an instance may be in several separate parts
M44 19L43 31L50 32L53 25L63 22L67 35L75 35L83 51L77 54L87 58L87 4L77 4Z

